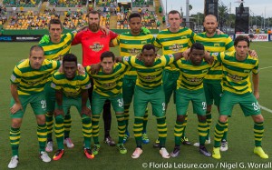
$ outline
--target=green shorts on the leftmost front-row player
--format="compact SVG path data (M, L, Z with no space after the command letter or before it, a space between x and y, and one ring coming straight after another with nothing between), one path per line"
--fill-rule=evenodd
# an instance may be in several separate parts
M17 111L15 114L11 114L11 118L23 118L26 105L30 104L34 115L44 115L46 113L46 101L44 92L34 95L19 95L19 100L23 106L23 110ZM15 105L15 99L12 97L10 107Z

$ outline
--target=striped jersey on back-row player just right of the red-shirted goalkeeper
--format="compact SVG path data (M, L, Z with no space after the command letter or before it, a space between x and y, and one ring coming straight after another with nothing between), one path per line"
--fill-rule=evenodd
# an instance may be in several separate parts
M153 35L146 35L141 33L140 35L131 35L131 32L122 33L113 40L113 45L119 45L119 51L121 56L140 55L141 48L146 44L153 44L155 38ZM128 71L125 74L126 78L136 79L137 73L134 69Z

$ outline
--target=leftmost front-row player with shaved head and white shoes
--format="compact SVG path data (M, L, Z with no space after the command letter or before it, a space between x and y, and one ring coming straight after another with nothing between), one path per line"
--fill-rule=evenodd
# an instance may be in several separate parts
M60 62L44 59L44 50L38 45L30 49L29 58L15 66L11 75L11 119L10 144L13 156L9 168L17 167L19 163L20 127L22 125L26 105L30 104L37 121L37 135L40 145L40 157L48 163L51 158L45 152L46 144L46 102L44 97L44 85L51 72L60 66Z

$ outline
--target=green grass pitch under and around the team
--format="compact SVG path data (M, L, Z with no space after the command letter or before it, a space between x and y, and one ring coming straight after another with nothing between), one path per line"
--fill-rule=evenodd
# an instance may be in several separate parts
M9 102L10 102L10 82L9 77L13 71L14 66L21 59L28 57L30 46L34 45L33 43L1 43L1 57L0 63L2 66L0 67L1 74L1 118L0 118L0 169L6 169L7 164L9 163L11 157L11 148L9 145L9 128L10 128L10 117L9 117ZM268 66L272 66L272 57L270 56L271 52L271 42L267 43L253 43L251 46L252 49L257 51L259 57L259 67L264 68ZM270 49L269 49L270 48ZM112 49L112 51L116 52L117 49ZM73 54L77 55L80 59L82 56L81 46L73 46L72 48ZM119 53L115 53L119 55ZM263 105L269 109L272 109L271 106L271 86L272 85L272 67L267 69L260 69L260 98L259 104ZM150 109L151 110L151 109ZM132 114L131 107L131 115ZM198 131L197 131L197 117L196 115L191 114L192 108L189 105L189 123L187 126L186 134L189 137L189 140L194 143L198 142ZM218 113L213 107L213 126L211 128L211 137L213 139L213 130L214 125L218 118ZM267 152L267 154L272 157L272 124L271 124L271 113L262 110L262 114L265 117L265 136L263 138L263 148ZM205 157L204 155L199 155L198 148L194 146L185 146L181 147L181 154L179 157L170 158L168 160L162 159L159 154L159 149L155 149L152 147L153 141L157 138L157 130L155 117L150 114L149 124L148 124L148 135L151 139L151 144L143 145L143 154L139 159L132 159L131 154L135 148L134 139L131 137L129 142L126 144L128 149L128 153L126 155L121 155L117 151L116 147L111 147L102 143L103 139L103 125L100 124L101 133L100 140L102 143L101 152L99 155L95 156L93 160L88 160L83 155L83 136L82 136L82 124L79 114L72 109L72 117L73 117L73 127L71 132L71 137L73 139L73 143L75 147L73 149L65 149L65 155L60 161L52 161L51 163L43 163L38 158L38 142L36 136L36 123L34 119L34 114L30 107L27 108L23 125L21 127L21 140L20 140L20 163L17 169L143 169L143 163L155 163L161 164L168 163L168 165L183 164L183 163L209 163L214 166L217 163L244 163L248 165L248 163L267 163L271 162L271 158L264 160L259 158L257 155L253 154L254 148L254 135L253 135L253 122L250 117L245 117L239 106L237 105L234 110L232 117L229 119L228 125L228 144L229 149L226 153L221 153L221 160L217 161L210 157ZM130 117L130 132L132 136L132 120L133 116ZM167 123L168 123L168 138L167 138L167 148L170 152L174 146L174 136L173 136L173 128L176 118L175 105L172 104L172 100L170 101L169 109L167 111ZM102 122L102 118L101 118ZM116 118L113 116L112 118L112 137L117 141L117 125ZM55 142L55 140L54 140ZM56 144L54 143L54 150L56 149ZM212 150L212 145L207 146L209 151ZM49 154L53 156L53 153ZM220 165L220 164L219 164ZM150 166L146 169L150 169ZM153 168L154 166L151 166ZM159 169L163 169L160 166ZM197 169L197 168L191 168ZM208 168L212 169L212 168ZM215 167L213 168L215 169ZM218 166L218 169L227 169L227 167L223 168L223 166ZM233 168L234 169L234 168ZM236 168L238 169L238 167ZM248 168L246 168L248 169ZM262 168L260 168L262 169Z

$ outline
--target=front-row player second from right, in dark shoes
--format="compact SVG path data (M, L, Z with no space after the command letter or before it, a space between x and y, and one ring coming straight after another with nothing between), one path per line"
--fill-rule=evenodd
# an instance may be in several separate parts
M172 157L180 155L180 138L184 131L189 101L192 102L193 112L198 115L199 119L199 152L206 156L211 155L205 147L208 125L203 79L212 65L203 61L204 54L204 46L200 43L195 43L190 47L189 60L182 58L171 65L180 69L180 77L177 82L178 88L176 90L177 120L174 129L175 147L171 152Z

